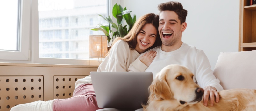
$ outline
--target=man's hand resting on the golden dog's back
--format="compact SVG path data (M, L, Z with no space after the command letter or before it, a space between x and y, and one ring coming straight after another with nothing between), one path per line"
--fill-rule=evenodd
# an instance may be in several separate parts
M214 100L216 103L218 103L220 100L220 97L219 97L219 94L218 94L216 88L214 88L212 86L206 86L204 88L204 95L203 95L203 105L204 106L208 105L209 98L210 98L210 106L213 106Z

